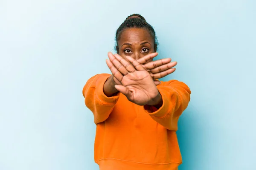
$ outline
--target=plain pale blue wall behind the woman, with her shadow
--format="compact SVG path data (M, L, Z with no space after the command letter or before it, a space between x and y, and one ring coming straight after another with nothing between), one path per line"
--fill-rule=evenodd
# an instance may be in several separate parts
M90 77L110 73L116 29L154 26L165 78L192 91L177 131L179 170L252 170L256 158L253 0L0 0L0 170L98 170Z

